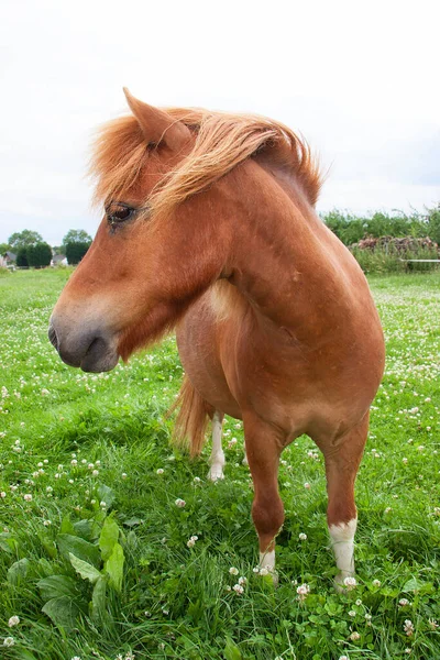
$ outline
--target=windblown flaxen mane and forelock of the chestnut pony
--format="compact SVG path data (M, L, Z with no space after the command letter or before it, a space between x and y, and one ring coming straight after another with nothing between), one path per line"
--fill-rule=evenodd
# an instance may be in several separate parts
M204 109L166 109L195 134L191 152L167 173L148 196L154 215L168 213L206 189L250 156L273 158L301 185L315 205L321 175L309 145L290 129L263 117L230 114ZM133 116L116 119L101 129L95 143L90 174L97 178L95 201L117 199L135 184L154 151Z

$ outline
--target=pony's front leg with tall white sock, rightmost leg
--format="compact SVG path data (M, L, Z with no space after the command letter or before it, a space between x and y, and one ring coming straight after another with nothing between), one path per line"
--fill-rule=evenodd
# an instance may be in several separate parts
M321 449L326 459L328 508L327 522L339 573L337 585L354 573L354 534L358 515L354 482L369 432L369 414L331 446Z

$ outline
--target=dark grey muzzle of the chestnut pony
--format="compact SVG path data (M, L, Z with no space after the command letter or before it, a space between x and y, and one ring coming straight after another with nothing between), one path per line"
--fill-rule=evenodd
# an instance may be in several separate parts
M97 329L70 330L52 317L48 339L63 362L85 372L112 370L119 360L116 341Z

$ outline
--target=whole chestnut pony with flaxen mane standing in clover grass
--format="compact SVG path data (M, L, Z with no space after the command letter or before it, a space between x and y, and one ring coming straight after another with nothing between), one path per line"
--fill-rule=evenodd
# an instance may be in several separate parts
M354 570L354 481L384 341L355 260L317 217L308 146L258 117L153 108L103 128L92 173L105 217L51 319L62 359L114 367L177 327L186 377L176 435L200 451L213 419L243 420L261 565L275 566L277 472L301 433L324 455L342 583Z

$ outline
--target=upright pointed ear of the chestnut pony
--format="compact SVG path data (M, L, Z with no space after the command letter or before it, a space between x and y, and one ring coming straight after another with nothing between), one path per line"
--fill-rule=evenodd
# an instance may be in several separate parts
M136 118L148 144L166 144L173 151L179 151L191 136L189 129L158 108L148 106L134 98L127 87L123 88L130 110Z

